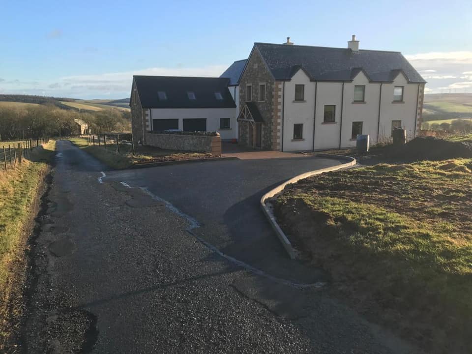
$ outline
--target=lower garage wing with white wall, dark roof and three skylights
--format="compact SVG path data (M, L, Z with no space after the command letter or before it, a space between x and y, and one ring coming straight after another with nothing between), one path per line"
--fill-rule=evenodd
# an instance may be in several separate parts
M150 131L217 131L237 138L236 104L228 78L133 76L131 124L136 143Z

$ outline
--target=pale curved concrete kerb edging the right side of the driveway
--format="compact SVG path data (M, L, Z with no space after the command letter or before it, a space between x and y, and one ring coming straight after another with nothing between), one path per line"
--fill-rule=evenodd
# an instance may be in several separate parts
M289 241L289 239L287 238L285 233L280 228L279 224L277 224L277 220L275 220L275 216L274 216L274 213L272 211L272 208L267 206L266 202L269 199L274 198L277 195L279 195L284 190L285 186L287 186L288 184L295 183L295 182L297 182L297 181L299 181L300 179L303 179L303 178L308 178L308 177L311 177L311 176L320 175L324 172L336 171L336 170L341 170L341 169L353 167L356 164L355 158L350 157L350 156L330 155L330 154L323 154L323 153L316 154L316 156L317 157L335 158L335 159L339 159L339 160L345 160L345 161L348 161L348 162L343 163L341 165L337 165L337 166L326 167L326 168L320 169L320 170L305 172L304 174L301 174L301 175L295 176L293 178L290 178L288 181L280 184L279 186L275 187L274 189L272 189L272 190L268 191L266 194L264 194L261 198L261 201L260 201L262 210L264 211L264 214L266 215L267 220L269 221L269 223L272 226L272 229L274 230L275 234L279 238L280 242L282 242L282 245L284 246L285 250L289 254L290 258L292 258L292 259L296 258L296 251L293 248L292 243Z

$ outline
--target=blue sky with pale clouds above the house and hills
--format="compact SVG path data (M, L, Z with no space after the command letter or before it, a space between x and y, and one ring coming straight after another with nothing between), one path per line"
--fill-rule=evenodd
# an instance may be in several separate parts
M0 0L0 93L129 97L133 75L219 76L254 42L400 51L426 93L472 93L472 1Z

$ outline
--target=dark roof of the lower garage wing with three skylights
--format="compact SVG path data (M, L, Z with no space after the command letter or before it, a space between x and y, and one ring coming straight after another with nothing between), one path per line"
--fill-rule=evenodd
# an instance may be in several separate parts
M184 76L133 76L143 108L236 108L228 90L229 79ZM160 100L158 91L166 92ZM195 93L190 100L187 92ZM223 100L216 99L221 92Z

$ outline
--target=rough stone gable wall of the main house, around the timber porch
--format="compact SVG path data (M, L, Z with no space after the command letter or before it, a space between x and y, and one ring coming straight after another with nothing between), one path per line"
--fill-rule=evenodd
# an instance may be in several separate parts
M266 84L266 100L264 102L259 102L259 84ZM249 58L246 70L244 70L244 74L242 75L239 82L240 110L244 107L246 102L246 85L252 85L251 101L256 103L262 117L264 118L262 127L262 148L274 149L274 78L269 72L266 63L262 59L257 49L254 50L251 57ZM248 129L241 123L243 122L239 123L239 143L241 145L247 145Z

